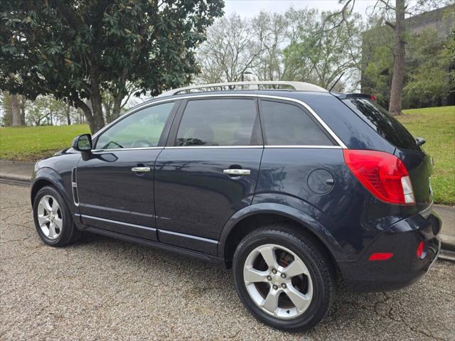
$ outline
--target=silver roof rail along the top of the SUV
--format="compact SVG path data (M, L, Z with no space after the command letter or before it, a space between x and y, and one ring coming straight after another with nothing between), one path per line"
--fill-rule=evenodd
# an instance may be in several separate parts
M299 91L321 91L328 92L323 87L313 85L305 82L294 82L286 80L263 80L263 81L252 81L252 82L225 82L225 83L212 83L202 85L191 85L189 87L178 87L177 89L163 92L158 97L172 96L173 94L179 94L181 92L200 92L202 89L209 89L208 91L216 91L214 88L220 87L221 90L235 90L235 87L248 86L249 90L259 90L261 85L286 85L288 87L294 87L294 90ZM228 89L225 89L225 88ZM224 88L224 89L223 89ZM195 91L196 90L196 91Z

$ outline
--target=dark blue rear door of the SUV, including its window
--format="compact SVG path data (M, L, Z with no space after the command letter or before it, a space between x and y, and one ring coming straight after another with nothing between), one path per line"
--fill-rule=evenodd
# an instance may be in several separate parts
M225 222L252 201L262 151L254 97L183 101L156 160L160 242L216 254Z

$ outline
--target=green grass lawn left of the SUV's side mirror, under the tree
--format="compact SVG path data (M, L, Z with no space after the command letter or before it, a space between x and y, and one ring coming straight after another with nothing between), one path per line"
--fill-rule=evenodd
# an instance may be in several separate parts
M0 128L0 158L36 161L69 148L75 136L90 133L87 125Z

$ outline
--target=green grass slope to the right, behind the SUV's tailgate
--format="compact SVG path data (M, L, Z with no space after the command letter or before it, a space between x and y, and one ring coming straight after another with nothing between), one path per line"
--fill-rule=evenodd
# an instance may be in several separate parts
M455 107L409 109L398 119L414 136L427 143L424 150L434 159L434 202L455 204Z

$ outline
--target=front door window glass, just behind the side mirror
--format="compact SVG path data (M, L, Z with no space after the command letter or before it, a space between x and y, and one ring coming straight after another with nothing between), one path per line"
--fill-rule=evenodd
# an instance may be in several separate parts
M174 102L158 104L125 117L100 135L96 149L146 148L158 146L164 124Z

